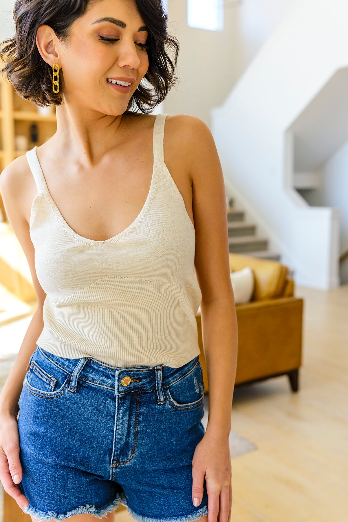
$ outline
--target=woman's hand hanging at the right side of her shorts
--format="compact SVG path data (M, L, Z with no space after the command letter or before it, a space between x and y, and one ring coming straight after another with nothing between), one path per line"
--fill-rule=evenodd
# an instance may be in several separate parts
M228 436L205 433L192 459L192 500L203 499L206 480L208 522L229 522L232 509L232 470Z

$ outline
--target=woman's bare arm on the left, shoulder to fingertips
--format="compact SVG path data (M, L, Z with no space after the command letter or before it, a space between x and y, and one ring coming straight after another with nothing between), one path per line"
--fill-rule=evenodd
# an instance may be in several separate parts
M29 501L18 486L22 480L17 425L18 400L29 359L36 348L36 339L43 328L43 302L46 296L36 277L34 247L29 234L29 223L25 217L25 209L31 208L31 202L28 201L30 190L26 186L24 177L26 170L24 160L25 158L17 158L7 165L0 175L0 191L4 207L10 225L27 257L38 297L38 307L24 336L14 366L0 393L0 480L4 490L16 500L21 508L23 508L23 504L29 505Z

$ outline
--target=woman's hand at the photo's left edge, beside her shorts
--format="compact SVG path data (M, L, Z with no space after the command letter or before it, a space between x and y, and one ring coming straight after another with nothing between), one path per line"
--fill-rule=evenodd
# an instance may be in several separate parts
M17 418L10 413L0 415L0 480L6 493L15 499L21 509L29 505L18 485L22 480L19 432Z

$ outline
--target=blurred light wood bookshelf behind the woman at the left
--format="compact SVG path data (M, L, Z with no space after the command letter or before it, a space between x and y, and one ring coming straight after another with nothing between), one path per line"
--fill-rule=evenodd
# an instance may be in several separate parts
M0 65L3 66L2 64L0 60ZM52 114L41 114L39 110L34 102L18 96L13 86L0 75L0 173L15 158L25 154L35 145L39 147L56 132L55 106L52 107ZM35 141L32 140L30 132L32 124L35 124L37 129ZM16 148L16 136L26 136L26 149ZM8 221L1 194L0 221Z

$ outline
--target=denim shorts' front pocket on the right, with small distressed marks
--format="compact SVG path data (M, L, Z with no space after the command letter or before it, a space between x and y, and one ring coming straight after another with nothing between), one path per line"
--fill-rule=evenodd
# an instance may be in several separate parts
M204 398L203 370L197 364L183 376L164 388L167 400L173 408L192 409L200 406Z

